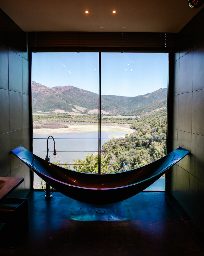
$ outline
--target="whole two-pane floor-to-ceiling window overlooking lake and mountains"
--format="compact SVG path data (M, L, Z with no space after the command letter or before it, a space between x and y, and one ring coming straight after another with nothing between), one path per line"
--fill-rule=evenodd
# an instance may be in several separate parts
M34 154L46 157L52 135L50 161L81 172L121 172L165 155L168 54L35 53L32 80ZM164 189L164 177L148 189Z

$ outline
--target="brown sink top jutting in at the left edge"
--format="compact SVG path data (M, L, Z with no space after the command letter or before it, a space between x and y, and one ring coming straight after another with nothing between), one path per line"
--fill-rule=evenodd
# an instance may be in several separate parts
M24 178L0 177L0 200L18 187L23 180Z

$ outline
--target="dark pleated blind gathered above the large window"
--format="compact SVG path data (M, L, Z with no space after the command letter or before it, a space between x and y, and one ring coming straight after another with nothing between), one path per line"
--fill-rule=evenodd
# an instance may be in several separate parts
M172 52L173 33L28 32L29 52Z

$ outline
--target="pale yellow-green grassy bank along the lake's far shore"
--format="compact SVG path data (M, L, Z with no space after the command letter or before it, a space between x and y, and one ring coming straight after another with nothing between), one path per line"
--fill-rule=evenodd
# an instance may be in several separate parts
M101 132L125 132L130 134L133 131L134 130L130 129L128 125L101 125ZM69 124L69 128L33 129L33 133L38 133L38 134L84 133L84 132L98 132L98 125L97 124ZM117 135L117 136L120 137L120 135Z

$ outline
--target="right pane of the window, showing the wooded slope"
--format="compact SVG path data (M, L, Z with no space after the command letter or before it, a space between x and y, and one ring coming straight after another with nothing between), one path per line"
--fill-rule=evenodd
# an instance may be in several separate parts
M167 86L168 54L101 53L101 173L165 155Z

